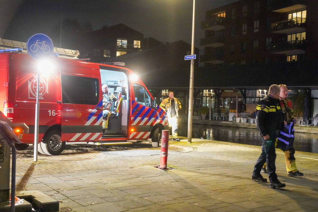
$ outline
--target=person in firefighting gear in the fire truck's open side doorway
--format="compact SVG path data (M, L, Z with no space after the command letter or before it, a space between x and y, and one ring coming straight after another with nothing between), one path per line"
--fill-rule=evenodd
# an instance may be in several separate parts
M101 90L103 92L103 131L104 129L107 129L108 127L108 120L109 116L112 114L110 111L110 107L108 106L108 103L110 102L116 102L117 98L108 90L108 86L106 84L103 84L101 86Z

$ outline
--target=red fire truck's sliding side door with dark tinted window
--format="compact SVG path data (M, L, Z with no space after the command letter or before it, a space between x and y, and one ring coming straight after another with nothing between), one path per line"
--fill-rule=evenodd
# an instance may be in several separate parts
M100 78L61 75L62 140L92 141L102 136Z

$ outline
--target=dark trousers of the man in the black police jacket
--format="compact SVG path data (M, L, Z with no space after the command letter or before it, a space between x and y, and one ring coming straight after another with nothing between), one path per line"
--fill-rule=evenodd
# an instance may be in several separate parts
M263 136L261 136L262 139L262 153L260 154L259 158L257 159L257 162L254 166L253 175L259 176L260 170L262 169L264 163L267 164L267 172L269 174L269 182L276 182L277 181L277 175L275 173L276 166L275 166L275 160L276 160L276 152L275 152L275 139L273 139L272 142L269 142L269 140L265 140Z

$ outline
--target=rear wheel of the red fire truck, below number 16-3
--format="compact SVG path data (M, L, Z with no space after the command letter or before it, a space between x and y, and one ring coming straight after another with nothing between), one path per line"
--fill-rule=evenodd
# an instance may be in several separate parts
M40 145L46 155L59 155L65 147L65 141L61 141L59 130L52 130L43 138Z

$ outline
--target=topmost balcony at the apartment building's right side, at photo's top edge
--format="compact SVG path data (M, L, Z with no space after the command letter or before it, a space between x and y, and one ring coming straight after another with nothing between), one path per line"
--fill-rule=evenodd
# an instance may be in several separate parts
M276 0L271 2L273 12L287 13L306 10L307 0Z

